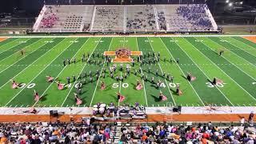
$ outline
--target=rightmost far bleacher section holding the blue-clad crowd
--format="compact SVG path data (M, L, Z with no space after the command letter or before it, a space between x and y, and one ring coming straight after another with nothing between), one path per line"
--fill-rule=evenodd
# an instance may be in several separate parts
M218 26L206 5L158 5L160 30L209 31Z

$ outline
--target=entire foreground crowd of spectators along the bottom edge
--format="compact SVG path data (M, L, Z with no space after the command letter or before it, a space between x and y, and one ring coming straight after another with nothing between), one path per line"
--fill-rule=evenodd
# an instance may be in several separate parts
M119 132L117 132L119 130ZM119 133L114 138L114 133ZM111 133L111 134L110 134ZM243 126L214 126L211 122L198 126L170 125L155 123L153 126L110 126L90 124L90 120L75 124L54 122L43 123L2 123L0 143L246 143L254 144L253 130ZM115 140L114 140L115 139Z

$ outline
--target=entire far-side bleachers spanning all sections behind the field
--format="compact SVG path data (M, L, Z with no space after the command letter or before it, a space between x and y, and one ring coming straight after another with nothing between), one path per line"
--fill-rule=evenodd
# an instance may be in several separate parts
M45 5L34 32L217 31L206 4Z

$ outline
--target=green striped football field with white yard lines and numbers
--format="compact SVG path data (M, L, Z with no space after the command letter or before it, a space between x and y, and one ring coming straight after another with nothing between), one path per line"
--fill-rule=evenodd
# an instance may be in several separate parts
M117 70L111 78L109 68L114 62L107 66L102 54L120 48L142 51L143 64L137 62L136 56L132 56L134 66L122 63L123 70L120 70L121 63L115 63ZM219 56L220 50L224 50L222 56ZM158 62L152 62L154 53L160 54ZM82 62L83 54L86 62ZM63 66L68 58L70 65ZM124 77L127 73L127 64L130 75L117 81L115 77ZM142 73L138 72L140 67ZM90 72L92 81L88 76ZM188 82L187 73L196 79ZM167 75L173 76L173 82ZM65 88L58 90L57 83L47 82L46 76L65 83ZM214 86L211 83L214 77L222 83ZM10 79L19 83L17 89L12 89ZM136 90L137 80L142 83L142 90ZM162 83L158 87L159 80ZM100 89L101 82L106 84L106 90ZM97 102L116 105L138 102L143 106L256 106L256 43L238 36L24 37L0 42L0 106L76 106L74 93L78 93L80 83L80 106L93 106ZM177 85L182 95L176 94ZM34 101L34 90L42 96L38 102ZM159 101L160 91L166 95L166 101ZM123 102L118 102L118 92L126 97Z

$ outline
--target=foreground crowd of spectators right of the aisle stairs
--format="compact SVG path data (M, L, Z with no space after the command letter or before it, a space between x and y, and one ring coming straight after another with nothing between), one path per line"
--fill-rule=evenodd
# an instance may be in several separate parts
M154 126L122 127L121 142L128 143L246 143L254 144L255 133L240 126L218 127L208 125L173 126L155 124Z

